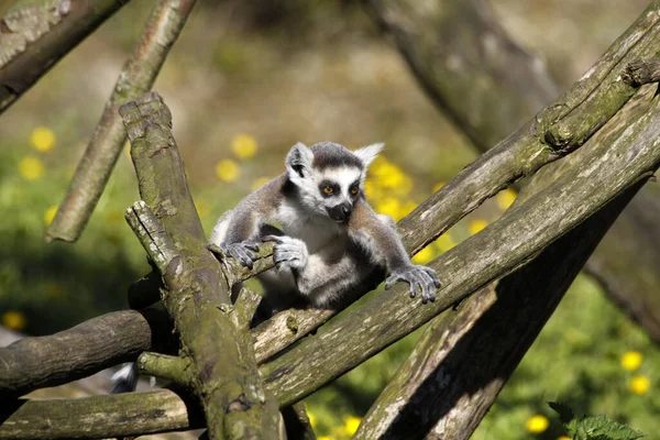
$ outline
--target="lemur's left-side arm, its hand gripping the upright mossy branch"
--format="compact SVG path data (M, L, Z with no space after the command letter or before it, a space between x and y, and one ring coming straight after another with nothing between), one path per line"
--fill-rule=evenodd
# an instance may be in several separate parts
M256 260L255 251L258 251L261 243L258 230L274 216L282 202L284 180L284 176L274 178L220 217L211 232L211 244L252 268Z

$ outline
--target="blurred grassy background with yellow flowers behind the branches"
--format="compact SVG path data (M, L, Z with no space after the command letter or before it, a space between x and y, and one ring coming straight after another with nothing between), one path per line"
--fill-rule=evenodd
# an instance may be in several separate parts
M562 88L646 6L492 3ZM153 4L129 3L0 118L0 318L8 328L48 334L125 308L128 286L148 272L123 220L139 198L128 153L78 243L45 244L43 233ZM397 219L475 157L354 1L200 2L154 89L173 111L209 232L226 209L283 172L284 154L298 141L386 142L367 194ZM490 200L417 261L477 232L514 198L506 191ZM317 433L348 438L415 341L406 338L309 397ZM580 277L473 438L559 439L563 430L548 400L565 402L578 415L607 414L658 438L659 367L660 353L644 332Z

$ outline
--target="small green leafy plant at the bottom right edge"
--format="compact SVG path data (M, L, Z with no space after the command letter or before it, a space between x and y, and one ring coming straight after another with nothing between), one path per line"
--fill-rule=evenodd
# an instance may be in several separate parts
M573 440L636 440L645 437L645 433L605 415L579 419L568 405L554 402L549 402L548 405L559 414L561 422Z

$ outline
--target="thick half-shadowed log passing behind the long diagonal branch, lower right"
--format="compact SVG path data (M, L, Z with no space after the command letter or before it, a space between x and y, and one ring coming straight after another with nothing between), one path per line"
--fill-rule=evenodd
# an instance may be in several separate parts
M648 110L654 90L649 87L638 94L579 152L539 172L516 204L580 162L588 150L606 151L630 121ZM458 312L431 321L363 418L355 438L469 439L641 184L627 189L530 263L470 297Z

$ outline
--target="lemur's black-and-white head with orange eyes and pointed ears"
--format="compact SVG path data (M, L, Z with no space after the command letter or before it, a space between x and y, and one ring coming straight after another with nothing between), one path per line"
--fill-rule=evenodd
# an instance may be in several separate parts
M366 168L383 146L373 144L350 151L332 142L309 148L297 143L286 156L287 175L306 208L345 223L355 202L364 197Z

